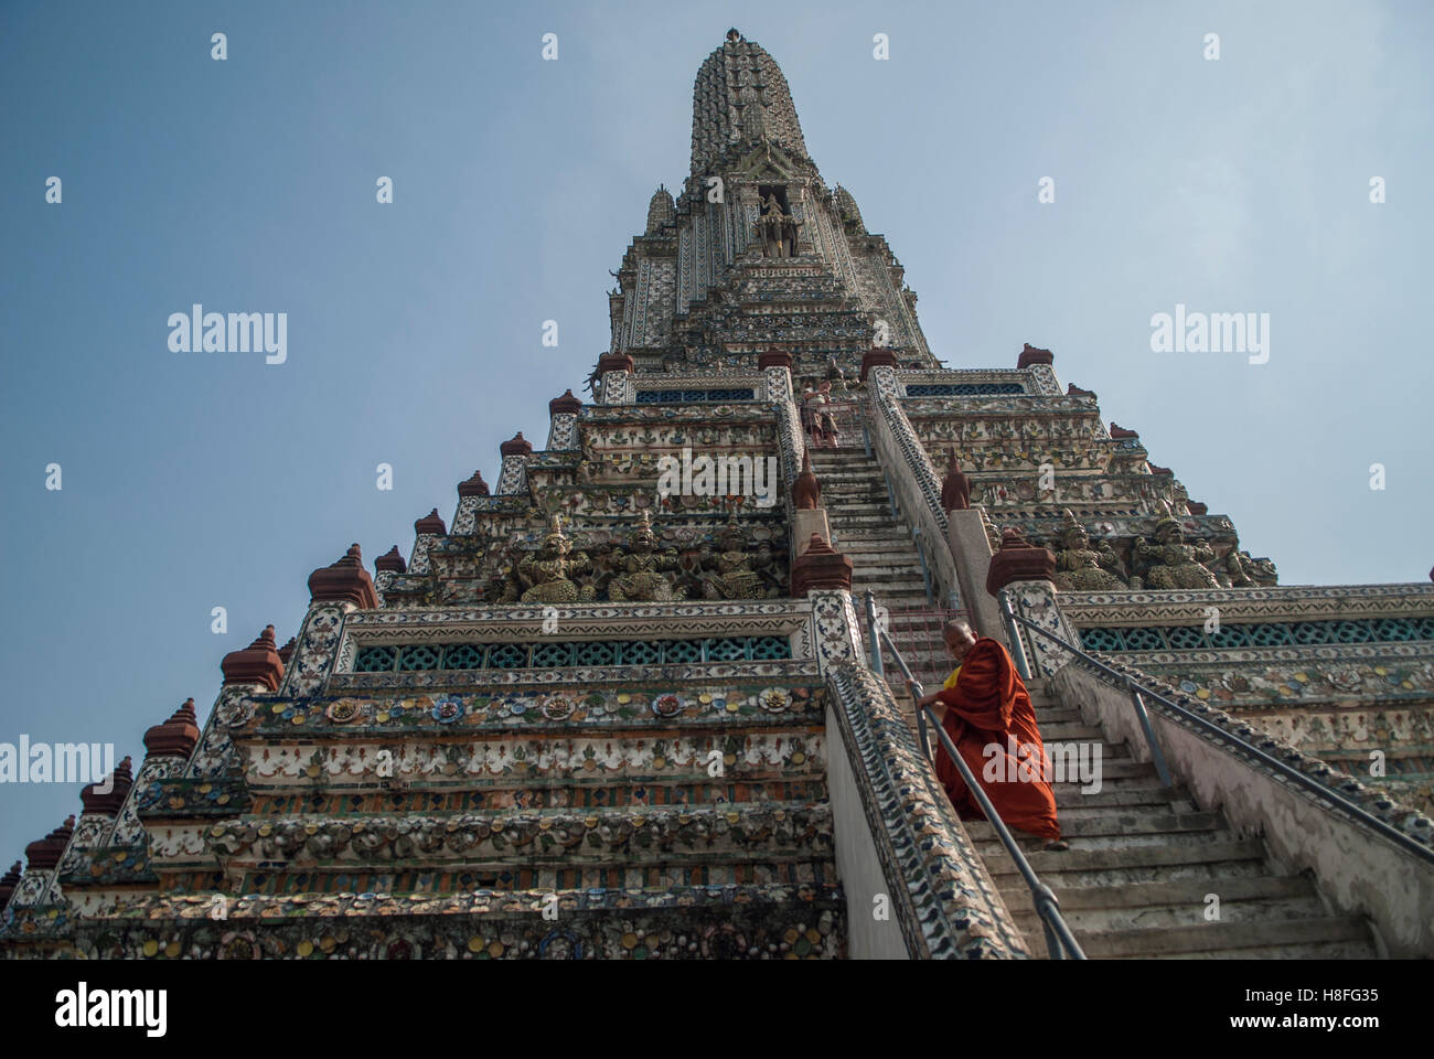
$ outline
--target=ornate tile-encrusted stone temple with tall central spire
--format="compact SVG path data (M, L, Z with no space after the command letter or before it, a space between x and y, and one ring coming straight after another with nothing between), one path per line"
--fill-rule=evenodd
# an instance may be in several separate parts
M211 707L36 822L0 953L1044 957L870 593L928 680L951 616L1008 644L1094 753L1027 854L1087 956L1434 954L1434 587L1282 587L1050 350L944 367L736 30L608 310L542 448L407 555L334 542Z

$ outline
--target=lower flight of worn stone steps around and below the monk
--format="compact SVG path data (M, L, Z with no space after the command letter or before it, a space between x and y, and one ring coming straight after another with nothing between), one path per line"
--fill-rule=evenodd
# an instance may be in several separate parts
M1041 682L1037 682L1041 683ZM1187 791L1162 786L1153 765L1131 759L1044 687L1031 689L1041 736L1100 748L1101 785L1055 783L1065 852L1017 832L1043 882L1091 959L1374 959L1365 923L1341 916L1314 880L1291 874L1258 837L1230 831L1223 814ZM1032 954L1045 956L1031 891L991 824L965 824ZM1209 895L1219 918L1207 920Z

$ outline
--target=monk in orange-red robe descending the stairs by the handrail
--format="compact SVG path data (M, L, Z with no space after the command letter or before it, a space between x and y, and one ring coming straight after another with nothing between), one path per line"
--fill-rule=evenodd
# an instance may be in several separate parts
M1068 849L1055 819L1050 759L1015 663L995 640L977 639L965 621L948 621L942 639L956 669L939 692L922 697L919 705L931 706L941 717L941 726L1007 827L1045 838L1050 851ZM936 779L962 819L985 818L939 742Z

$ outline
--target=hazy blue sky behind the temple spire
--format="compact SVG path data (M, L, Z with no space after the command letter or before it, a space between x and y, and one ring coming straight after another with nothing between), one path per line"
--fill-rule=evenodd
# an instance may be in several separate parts
M1427 577L1428 4L511 7L0 7L0 740L141 758L227 651L297 630L313 568L407 554L500 441L542 445L728 26L936 356L1053 349L1285 584ZM171 353L194 303L285 311L287 363ZM1177 303L1269 313L1269 363L1152 353ZM0 786L0 870L76 794Z

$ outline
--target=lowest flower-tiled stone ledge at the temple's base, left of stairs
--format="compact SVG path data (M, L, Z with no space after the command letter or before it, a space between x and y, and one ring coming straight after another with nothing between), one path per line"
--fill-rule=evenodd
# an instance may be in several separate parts
M60 959L842 959L845 904L829 887L564 893L559 921L511 893L336 898L161 895L120 917L27 920L13 956ZM536 898L536 900L532 900Z

